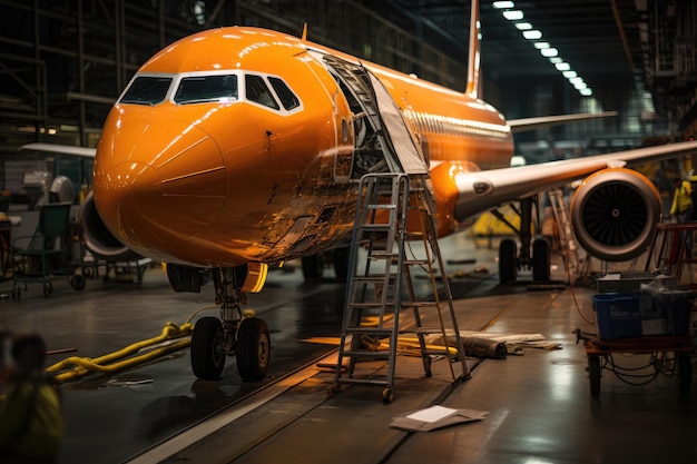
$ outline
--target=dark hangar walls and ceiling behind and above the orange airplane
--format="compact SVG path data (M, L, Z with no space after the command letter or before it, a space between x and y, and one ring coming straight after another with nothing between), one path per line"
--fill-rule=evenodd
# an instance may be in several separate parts
M483 96L507 118L618 110L517 138L528 162L691 137L697 116L694 0L482 1ZM503 2L507 3L507 2ZM22 172L89 187L89 160L46 159L31 141L95 147L106 115L154 52L230 24L300 36L457 90L467 80L467 0L2 0L0 188ZM508 7L508 8L501 8ZM509 17L507 11L521 16ZM523 33L539 31L540 38ZM542 48L544 47L544 48ZM569 66L569 69L560 68ZM565 77L563 72L566 72ZM569 79L581 79L588 96ZM53 166L55 165L55 166Z

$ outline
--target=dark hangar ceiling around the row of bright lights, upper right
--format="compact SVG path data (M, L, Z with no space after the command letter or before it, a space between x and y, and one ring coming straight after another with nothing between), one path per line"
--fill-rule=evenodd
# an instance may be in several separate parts
M485 77L510 82L563 79L550 60L516 23L529 22L587 82L603 109L612 108L618 89L634 88L646 112L655 110L662 131L685 130L691 119L697 82L695 0L516 0L507 9L481 2L482 62ZM389 0L380 11L409 28L421 23L425 40L453 51L467 46L469 0ZM519 10L523 19L502 12ZM464 31L464 32L463 32ZM648 92L648 93L645 93Z

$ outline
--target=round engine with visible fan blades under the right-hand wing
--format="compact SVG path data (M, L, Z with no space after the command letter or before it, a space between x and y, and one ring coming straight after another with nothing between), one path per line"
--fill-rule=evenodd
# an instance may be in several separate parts
M646 176L608 168L581 184L570 211L576 238L587 253L606 261L624 261L647 250L660 221L661 203Z

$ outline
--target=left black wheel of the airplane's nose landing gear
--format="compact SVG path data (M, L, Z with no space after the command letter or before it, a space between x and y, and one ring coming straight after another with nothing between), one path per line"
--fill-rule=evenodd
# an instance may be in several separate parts
M192 334L192 369L205 381L217 381L225 367L225 335L217 317L202 317Z

